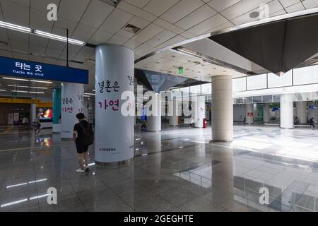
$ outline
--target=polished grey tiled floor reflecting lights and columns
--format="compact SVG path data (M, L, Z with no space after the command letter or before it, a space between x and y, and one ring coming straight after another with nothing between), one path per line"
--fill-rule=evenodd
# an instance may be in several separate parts
M210 143L211 128L136 130L130 165L95 166L92 146L78 174L73 142L0 128L0 211L318 210L318 130L235 126L232 143Z

